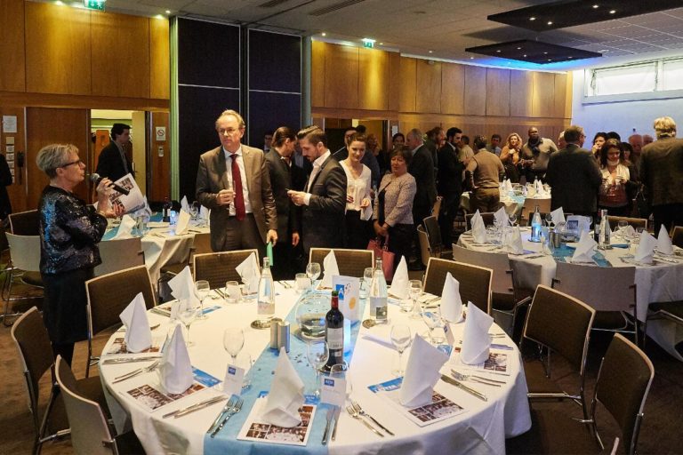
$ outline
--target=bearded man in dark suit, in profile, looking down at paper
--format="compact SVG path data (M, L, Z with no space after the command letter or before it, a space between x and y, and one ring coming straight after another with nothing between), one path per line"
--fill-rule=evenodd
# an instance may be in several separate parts
M301 206L304 255L311 247L338 248L343 242L346 173L327 148L327 135L312 125L297 134L303 156L313 164L304 191L287 194Z

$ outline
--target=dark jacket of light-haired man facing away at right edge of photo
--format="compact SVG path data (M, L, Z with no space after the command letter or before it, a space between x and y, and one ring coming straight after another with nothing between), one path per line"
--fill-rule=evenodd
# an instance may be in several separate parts
M640 180L653 206L683 203L683 140L647 144L640 154Z

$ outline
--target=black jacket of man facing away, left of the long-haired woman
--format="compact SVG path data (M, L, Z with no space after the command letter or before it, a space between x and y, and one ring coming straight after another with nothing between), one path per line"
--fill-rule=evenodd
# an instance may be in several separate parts
M602 173L590 151L569 144L550 155L545 180L551 187L550 207L585 214L598 210Z

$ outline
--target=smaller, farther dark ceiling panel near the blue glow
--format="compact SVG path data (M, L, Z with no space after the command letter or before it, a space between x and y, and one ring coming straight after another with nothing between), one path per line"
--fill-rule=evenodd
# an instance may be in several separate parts
M599 52L583 51L574 47L541 41L518 40L507 43L486 44L485 46L468 47L467 52L481 53L501 59L522 60L541 65L558 61L574 61L602 57Z

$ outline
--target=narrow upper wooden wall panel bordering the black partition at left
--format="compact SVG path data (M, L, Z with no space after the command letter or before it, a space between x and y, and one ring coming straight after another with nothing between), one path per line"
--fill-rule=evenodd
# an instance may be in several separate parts
M149 20L149 97L167 100L171 90L168 20Z

